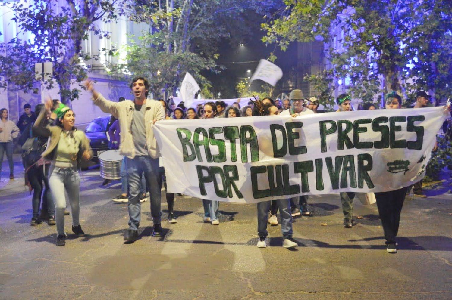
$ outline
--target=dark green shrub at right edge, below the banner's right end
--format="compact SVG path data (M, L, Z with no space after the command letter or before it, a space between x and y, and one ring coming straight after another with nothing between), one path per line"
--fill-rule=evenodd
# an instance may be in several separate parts
M444 137L437 137L438 148L432 152L432 157L425 167L425 182L440 179L441 171L452 166L451 149L452 143Z

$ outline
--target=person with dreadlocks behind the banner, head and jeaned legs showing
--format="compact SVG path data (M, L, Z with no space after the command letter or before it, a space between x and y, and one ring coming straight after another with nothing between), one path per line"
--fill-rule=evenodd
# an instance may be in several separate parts
M264 104L261 100L256 100L254 102L253 116L278 115L278 114L279 109L274 104L272 103ZM293 229L292 229L292 216L290 214L290 198L275 200L275 202L281 214L281 231L282 235L284 236L282 247L284 248L297 247L298 244L292 239ZM257 246L259 248L267 247L265 239L267 238L268 235L267 222L269 222L268 221L269 209L270 201L262 201L257 203L257 231L259 235L259 241L257 243Z

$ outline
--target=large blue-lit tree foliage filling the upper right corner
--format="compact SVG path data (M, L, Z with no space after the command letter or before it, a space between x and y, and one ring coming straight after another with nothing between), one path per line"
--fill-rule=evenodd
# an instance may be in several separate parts
M325 72L307 76L328 93L325 80L349 83L353 97L381 100L417 89L439 102L452 92L452 2L448 0L286 0L262 28L265 43L325 43ZM320 83L320 84L317 84ZM333 88L334 88L333 85ZM376 97L377 96L377 97ZM332 99L323 99L332 104Z

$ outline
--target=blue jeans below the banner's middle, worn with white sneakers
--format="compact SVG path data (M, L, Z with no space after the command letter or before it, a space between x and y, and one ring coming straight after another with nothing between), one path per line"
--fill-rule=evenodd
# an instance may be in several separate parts
M274 201L274 200L273 200ZM290 213L290 198L276 200L281 215L281 232L285 239L291 238L292 230L292 215ZM263 201L257 203L257 231L259 237L266 238L268 235L267 222L268 210L270 209L270 201Z

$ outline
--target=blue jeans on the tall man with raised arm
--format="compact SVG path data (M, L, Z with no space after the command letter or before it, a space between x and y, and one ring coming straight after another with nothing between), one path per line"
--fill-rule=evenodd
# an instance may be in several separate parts
M160 211L160 176L159 159L149 156L136 156L135 158L126 158L127 177L128 177L128 196L129 202L129 228L138 230L141 220L140 187L141 175L144 174L146 186L149 189L149 198L151 198L151 216L154 225L161 222Z

